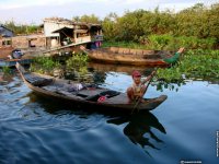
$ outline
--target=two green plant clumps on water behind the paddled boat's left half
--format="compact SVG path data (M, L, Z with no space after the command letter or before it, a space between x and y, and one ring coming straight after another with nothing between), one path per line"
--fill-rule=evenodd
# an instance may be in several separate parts
M34 59L30 71L66 78L78 81L88 79L87 69L88 56L84 54L74 54L64 63L51 57L38 57Z

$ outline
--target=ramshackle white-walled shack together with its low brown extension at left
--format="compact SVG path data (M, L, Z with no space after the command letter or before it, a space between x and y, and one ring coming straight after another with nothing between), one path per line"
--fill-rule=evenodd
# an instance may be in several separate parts
M78 45L100 45L103 40L100 24L73 22L61 17L45 19L44 34L2 37L0 47L22 49L25 54L58 54L76 51ZM9 33L7 34L9 36Z

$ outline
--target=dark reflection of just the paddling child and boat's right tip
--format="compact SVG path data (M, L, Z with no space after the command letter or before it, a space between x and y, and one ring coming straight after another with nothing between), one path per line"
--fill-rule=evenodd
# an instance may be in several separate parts
M158 118L151 113L137 113L131 116L123 116L118 118L113 118L107 120L108 124L122 125L128 122L124 128L124 134L127 136L130 141L135 144L139 144L148 155L151 156L146 147L159 150L154 145L157 143L163 142L157 134L152 131L152 128L159 130L162 133L166 133L164 127L159 122Z

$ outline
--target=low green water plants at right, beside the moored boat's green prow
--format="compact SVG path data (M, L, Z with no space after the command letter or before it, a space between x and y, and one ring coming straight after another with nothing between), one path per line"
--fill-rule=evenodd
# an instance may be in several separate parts
M159 69L159 79L181 82L186 79L219 80L219 50L187 50L183 60L171 68ZM185 78L184 78L185 77Z

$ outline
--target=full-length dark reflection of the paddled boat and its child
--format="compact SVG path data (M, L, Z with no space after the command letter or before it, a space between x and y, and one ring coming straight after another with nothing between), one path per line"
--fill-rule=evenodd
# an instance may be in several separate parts
M62 104L58 101L50 102L46 98L37 96L33 92L28 93L27 96L30 97L31 103L36 103L37 106L39 105L46 113L51 115L57 115L57 112L60 113L60 110L69 110L71 114L80 115L80 117L83 118L88 118L93 114L99 114L95 110L71 108L69 107L69 104ZM125 115L120 113L117 115L112 113L100 114L106 116L107 124L114 124L117 126L127 124L123 129L124 134L128 137L134 144L140 145L149 156L152 156L149 149L160 150L158 144L163 143L163 141L159 139L159 131L164 134L166 131L153 114L149 112L140 112L132 115Z

